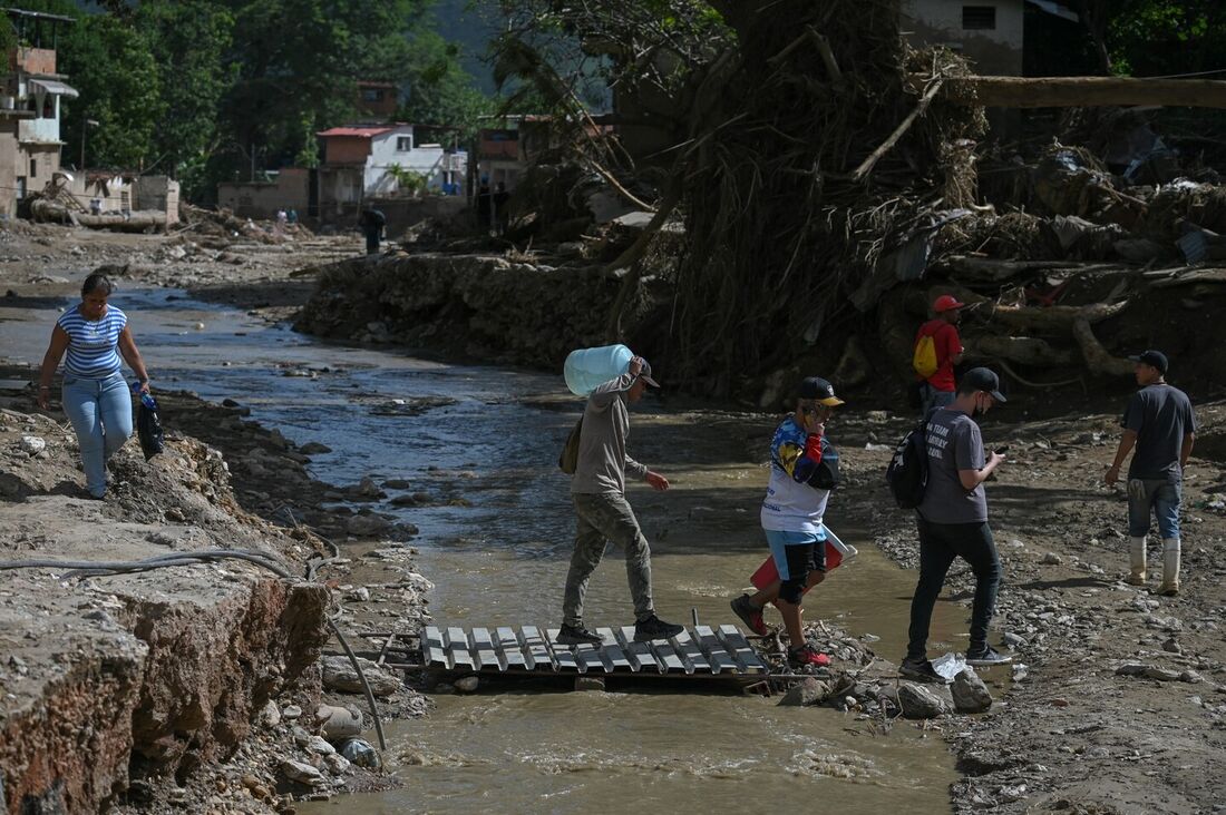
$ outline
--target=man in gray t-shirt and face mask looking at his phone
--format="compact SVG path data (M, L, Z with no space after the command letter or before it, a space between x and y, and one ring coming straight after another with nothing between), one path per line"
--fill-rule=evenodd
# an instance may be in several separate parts
M988 500L983 482L1004 462L999 452L983 453L980 425L971 417L1004 402L1000 380L987 368L972 368L958 385L954 402L928 418L928 484L916 507L920 527L920 582L911 598L907 656L900 673L921 681L944 683L928 661L928 627L932 609L955 558L975 572L971 605L971 645L966 662L997 665L1011 662L988 645L988 623L1000 586L1000 558L988 526Z

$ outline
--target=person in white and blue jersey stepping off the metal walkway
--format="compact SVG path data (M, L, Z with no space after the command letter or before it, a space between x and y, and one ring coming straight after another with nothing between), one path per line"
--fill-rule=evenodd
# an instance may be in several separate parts
M763 501L761 525L780 580L753 597L732 601L732 610L755 634L765 636L763 609L775 603L788 639L787 659L793 665L826 665L830 658L804 639L801 597L826 576L826 531L821 518L835 479L828 456L837 461L826 441L826 422L843 401L834 386L810 376L797 389L796 411L776 428L770 445L770 483ZM823 467L823 462L826 466Z

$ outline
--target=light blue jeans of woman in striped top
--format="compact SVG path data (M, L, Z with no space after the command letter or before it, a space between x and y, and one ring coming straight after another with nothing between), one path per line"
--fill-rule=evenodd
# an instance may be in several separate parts
M123 375L105 379L64 375L64 412L81 447L85 485L94 498L107 494L107 460L132 435L132 396Z

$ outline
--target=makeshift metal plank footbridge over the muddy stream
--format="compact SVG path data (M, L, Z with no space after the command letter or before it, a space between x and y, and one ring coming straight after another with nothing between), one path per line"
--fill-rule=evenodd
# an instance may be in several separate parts
M429 668L499 674L598 674L734 679L769 673L734 625L696 625L669 640L635 642L634 629L596 629L600 646L558 645L558 629L525 625L471 629L427 626L422 656Z

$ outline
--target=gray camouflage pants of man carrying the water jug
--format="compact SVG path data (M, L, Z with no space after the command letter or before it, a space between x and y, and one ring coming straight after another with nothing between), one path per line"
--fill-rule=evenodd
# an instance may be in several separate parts
M625 550L625 576L630 581L634 619L645 620L655 614L651 603L651 549L629 501L617 493L576 493L570 498L575 504L579 531L575 534L575 553L570 556L570 571L566 572L562 621L576 626L584 624L587 580L604 556L606 542Z

